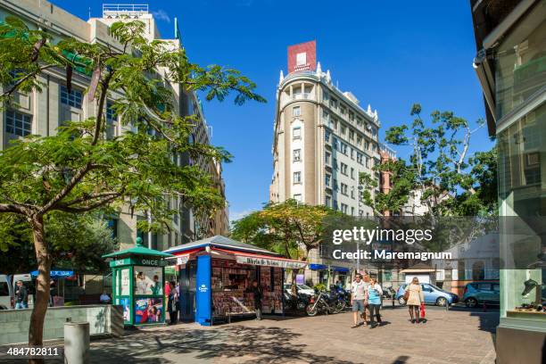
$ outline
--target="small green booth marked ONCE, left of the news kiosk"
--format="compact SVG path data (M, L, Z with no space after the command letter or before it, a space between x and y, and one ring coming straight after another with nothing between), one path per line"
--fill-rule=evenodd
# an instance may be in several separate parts
M113 259L112 303L123 307L126 326L165 322L165 258L172 256L146 248L140 237L132 248L103 255Z

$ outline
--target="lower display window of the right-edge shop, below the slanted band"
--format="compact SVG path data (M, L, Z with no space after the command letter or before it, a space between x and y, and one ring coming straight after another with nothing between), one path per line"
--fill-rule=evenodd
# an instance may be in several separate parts
M497 137L503 268L501 318L524 318L517 322L524 327L544 326L546 103Z

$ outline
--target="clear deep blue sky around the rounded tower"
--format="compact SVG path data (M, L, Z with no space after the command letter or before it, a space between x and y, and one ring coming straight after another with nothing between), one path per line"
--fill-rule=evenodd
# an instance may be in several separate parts
M102 2L54 0L79 17L100 16ZM110 3L110 2L109 2ZM142 4L143 2L136 2ZM286 47L317 40L318 61L364 108L371 103L385 129L408 122L412 103L424 114L451 110L484 118L472 68L476 45L468 1L149 1L161 36L173 37L174 17L193 62L241 70L268 103L204 103L215 145L235 159L224 166L230 217L257 210L269 198L271 141L279 70ZM286 73L286 71L285 71ZM492 146L481 129L472 150ZM401 157L406 151L399 151Z

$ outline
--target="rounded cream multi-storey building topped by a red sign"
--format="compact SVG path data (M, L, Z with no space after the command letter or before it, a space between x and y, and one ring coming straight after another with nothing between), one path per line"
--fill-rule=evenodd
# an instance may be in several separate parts
M380 161L377 112L335 87L317 62L315 41L288 47L288 73L281 70L273 136L271 202L295 199L325 204L352 216L373 216L360 202L359 174ZM376 193L376 191L373 191ZM310 252L307 281L344 281L354 264Z

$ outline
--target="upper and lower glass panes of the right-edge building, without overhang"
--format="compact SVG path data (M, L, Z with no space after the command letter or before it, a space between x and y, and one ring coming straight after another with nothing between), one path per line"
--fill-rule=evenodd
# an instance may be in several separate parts
M501 40L494 62L501 120L500 327L545 332L546 2L537 4Z

